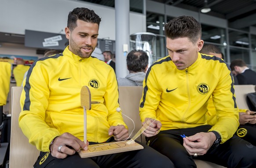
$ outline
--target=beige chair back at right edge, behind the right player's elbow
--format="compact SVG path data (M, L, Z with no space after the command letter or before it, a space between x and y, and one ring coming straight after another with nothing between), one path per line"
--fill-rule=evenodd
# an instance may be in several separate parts
M246 103L246 95L248 93L255 92L255 85L245 84L245 85L234 85L235 86L235 96L236 102L239 109L249 109Z

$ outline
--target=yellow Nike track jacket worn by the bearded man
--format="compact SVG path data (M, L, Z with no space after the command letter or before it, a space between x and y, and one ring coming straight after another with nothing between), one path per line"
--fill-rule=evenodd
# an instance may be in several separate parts
M40 151L49 151L51 140L68 132L84 139L84 110L80 91L88 86L92 104L87 110L87 139L104 142L110 126L125 125L118 104L114 70L103 61L81 59L69 51L44 57L28 71L21 95L19 126L29 142Z

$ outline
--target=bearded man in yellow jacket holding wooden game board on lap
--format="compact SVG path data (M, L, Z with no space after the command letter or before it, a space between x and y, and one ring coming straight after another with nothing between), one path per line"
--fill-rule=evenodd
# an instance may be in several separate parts
M89 144L121 141L128 130L117 112L118 89L113 68L91 53L96 47L101 18L93 10L75 8L65 28L69 46L61 54L37 60L26 77L21 95L19 126L40 150L35 168L148 168L173 167L164 155L143 145L143 150L80 158ZM80 91L91 91L87 110L87 139ZM150 160L148 159L150 158Z

